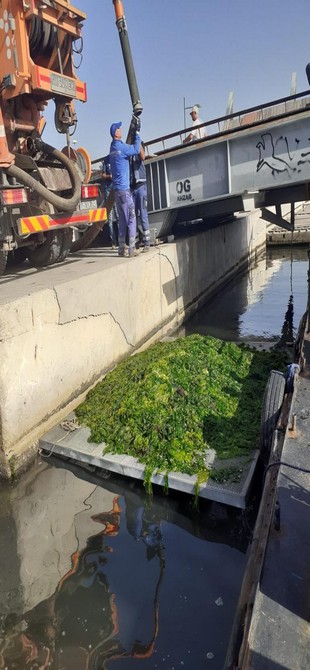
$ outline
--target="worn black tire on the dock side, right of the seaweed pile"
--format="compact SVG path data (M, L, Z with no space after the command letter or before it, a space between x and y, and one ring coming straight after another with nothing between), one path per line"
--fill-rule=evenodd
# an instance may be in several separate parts
M261 416L260 459L264 465L269 461L273 433L284 399L285 384L283 372L271 370L263 397Z

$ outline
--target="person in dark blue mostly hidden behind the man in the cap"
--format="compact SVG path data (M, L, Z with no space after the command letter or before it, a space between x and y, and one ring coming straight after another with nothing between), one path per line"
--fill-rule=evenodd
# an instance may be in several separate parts
M144 159L145 147L144 142L141 142L139 155L131 158L130 186L135 205L138 231L142 236L143 251L146 252L150 249L150 226L147 211L147 186Z

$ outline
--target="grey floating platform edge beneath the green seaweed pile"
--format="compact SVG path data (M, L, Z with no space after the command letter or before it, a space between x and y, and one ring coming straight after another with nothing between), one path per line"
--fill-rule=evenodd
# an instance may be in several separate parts
M45 455L62 456L62 458L68 460L73 459L77 463L87 463L108 472L143 481L144 465L142 463L125 454L106 453L103 456L105 445L88 442L89 435L90 430L77 426L74 414L71 413L66 421L61 422L43 435L39 440L39 449ZM258 455L258 450L255 450L250 458L217 462L214 450L208 450L206 452L206 465L212 464L214 469L237 467L239 476L237 482L223 484L217 484L209 480L200 487L199 497L245 509ZM169 488L194 496L196 479L194 476L180 472L171 472L168 478ZM163 487L164 476L154 475L152 483Z

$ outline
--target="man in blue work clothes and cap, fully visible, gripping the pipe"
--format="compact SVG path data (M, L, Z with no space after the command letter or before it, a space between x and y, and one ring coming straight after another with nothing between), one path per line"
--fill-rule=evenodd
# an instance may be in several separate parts
M136 230L137 220L129 183L129 159L138 156L140 151L140 120L133 116L134 142L122 142L122 122L112 123L110 135L110 164L115 203L118 213L118 255L132 258L137 254ZM126 233L128 229L128 252L126 249Z

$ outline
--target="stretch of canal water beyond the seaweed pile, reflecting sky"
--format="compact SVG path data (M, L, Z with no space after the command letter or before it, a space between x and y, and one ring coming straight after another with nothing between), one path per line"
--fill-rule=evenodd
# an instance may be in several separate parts
M268 250L247 274L196 313L185 326L186 334L235 342L277 341L285 322L295 338L307 304L307 270L306 248Z

